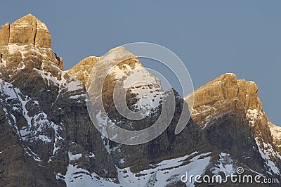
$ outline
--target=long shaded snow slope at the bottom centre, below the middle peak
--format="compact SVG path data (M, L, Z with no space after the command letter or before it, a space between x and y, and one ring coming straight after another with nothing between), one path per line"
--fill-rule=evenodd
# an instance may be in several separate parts
M204 174L211 160L211 153L197 155L197 152L171 160L164 160L151 169L138 173L131 172L130 167L118 169L118 179L121 186L166 186L181 181L186 172L192 175ZM186 183L195 186L195 181Z

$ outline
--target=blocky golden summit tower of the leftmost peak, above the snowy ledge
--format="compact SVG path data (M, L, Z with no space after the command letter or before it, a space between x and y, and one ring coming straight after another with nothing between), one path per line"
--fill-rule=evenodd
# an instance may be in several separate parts
M27 14L11 25L6 23L1 26L0 45L8 44L34 44L42 48L51 48L51 34L44 22L32 14Z

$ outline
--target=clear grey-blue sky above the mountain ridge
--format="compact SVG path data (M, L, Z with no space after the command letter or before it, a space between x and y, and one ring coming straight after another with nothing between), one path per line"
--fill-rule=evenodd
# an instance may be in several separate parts
M174 51L195 88L226 72L252 80L281 125L281 1L2 1L0 24L27 13L51 31L66 69L86 56L148 41ZM176 86L175 86L176 87Z

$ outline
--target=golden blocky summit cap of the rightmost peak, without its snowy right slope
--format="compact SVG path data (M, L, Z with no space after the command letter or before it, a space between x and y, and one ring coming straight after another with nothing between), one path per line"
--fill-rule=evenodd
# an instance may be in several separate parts
M241 108L246 114L248 110L263 112L258 93L258 86L254 82L237 79L233 73L221 75L195 90L192 119L204 125L206 122L202 121L205 118L203 116L228 112L230 107ZM188 102L188 98L185 96L185 101Z

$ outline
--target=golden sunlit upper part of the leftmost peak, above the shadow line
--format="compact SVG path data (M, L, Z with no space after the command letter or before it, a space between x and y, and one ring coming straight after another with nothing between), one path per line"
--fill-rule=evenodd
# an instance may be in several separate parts
M52 63L63 70L63 58L51 49L51 34L34 15L28 14L0 30L1 74L13 75L19 69L37 68ZM8 63L6 63L8 62ZM7 79L7 76L5 76Z

